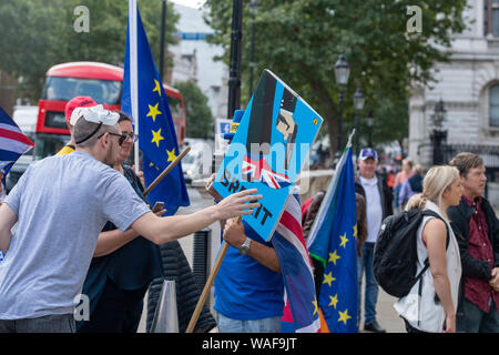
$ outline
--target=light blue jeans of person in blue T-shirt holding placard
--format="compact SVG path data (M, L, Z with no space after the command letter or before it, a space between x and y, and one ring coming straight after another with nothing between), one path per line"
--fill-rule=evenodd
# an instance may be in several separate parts
M233 320L217 313L220 333L281 333L281 316L263 320Z

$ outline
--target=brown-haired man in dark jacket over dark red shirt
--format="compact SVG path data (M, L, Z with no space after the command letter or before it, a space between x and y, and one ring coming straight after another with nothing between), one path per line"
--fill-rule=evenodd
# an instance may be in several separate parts
M487 178L483 160L459 153L450 165L459 170L464 194L448 215L459 243L462 280L457 332L499 332L499 221L482 197Z

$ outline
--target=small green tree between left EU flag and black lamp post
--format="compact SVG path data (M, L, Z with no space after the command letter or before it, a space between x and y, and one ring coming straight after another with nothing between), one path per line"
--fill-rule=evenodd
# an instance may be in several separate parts
M184 97L185 114L187 116L189 138L213 138L213 115L210 110L207 98L201 89L192 81L177 81L175 88Z

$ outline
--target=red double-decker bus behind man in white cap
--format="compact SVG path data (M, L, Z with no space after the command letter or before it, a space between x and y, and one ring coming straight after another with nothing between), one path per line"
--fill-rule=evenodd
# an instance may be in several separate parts
M74 97L91 97L105 109L120 110L123 69L99 62L70 62L54 65L47 72L38 104L35 159L55 154L70 140L64 108ZM179 145L185 139L185 105L179 90L163 84Z

